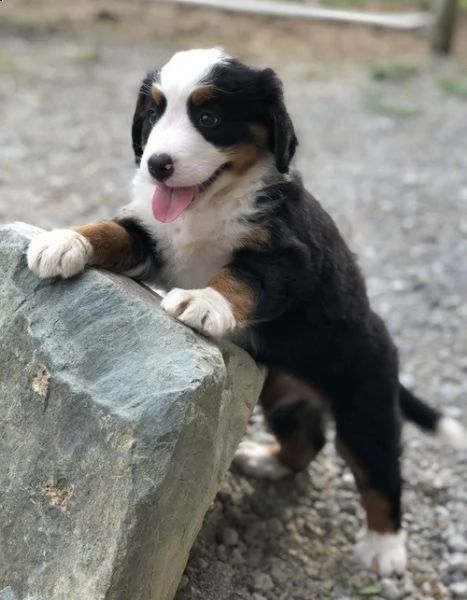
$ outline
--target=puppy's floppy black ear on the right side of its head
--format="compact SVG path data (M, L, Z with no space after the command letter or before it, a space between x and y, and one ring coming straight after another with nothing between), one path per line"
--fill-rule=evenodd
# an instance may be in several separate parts
M287 173L298 144L297 136L292 119L285 108L282 82L272 69L264 69L262 74L268 88L269 147L274 155L277 170Z

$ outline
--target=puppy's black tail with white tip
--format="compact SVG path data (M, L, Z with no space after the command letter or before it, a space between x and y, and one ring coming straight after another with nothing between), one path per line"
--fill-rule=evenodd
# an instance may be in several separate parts
M402 384L399 384L399 401L404 417L420 429L432 433L453 448L467 448L467 432L458 421L431 408Z

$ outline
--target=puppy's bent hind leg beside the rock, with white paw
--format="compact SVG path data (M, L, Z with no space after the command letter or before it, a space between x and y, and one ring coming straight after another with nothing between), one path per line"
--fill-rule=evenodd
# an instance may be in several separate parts
M268 479L306 469L326 443L317 394L294 377L270 371L260 403L278 443L264 445L245 440L235 464L247 475Z

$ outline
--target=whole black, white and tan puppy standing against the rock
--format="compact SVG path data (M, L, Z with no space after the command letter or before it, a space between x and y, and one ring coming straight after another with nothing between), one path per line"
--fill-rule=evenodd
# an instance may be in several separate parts
M144 79L132 137L131 202L114 220L39 234L29 267L68 278L92 265L163 288L169 315L265 365L260 401L278 443L240 446L250 475L305 469L329 413L366 512L358 555L403 571L402 420L457 447L466 434L399 382L352 252L290 170L297 138L280 80L221 49L179 52Z

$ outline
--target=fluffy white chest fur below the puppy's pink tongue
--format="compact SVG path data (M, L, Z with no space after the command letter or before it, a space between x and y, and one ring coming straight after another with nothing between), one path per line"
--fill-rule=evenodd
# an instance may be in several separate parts
M242 178L232 191L201 197L173 223L160 223L151 209L154 184L137 172L134 199L125 209L139 219L157 241L164 268L157 283L166 289L201 288L225 266L251 225L263 168Z

